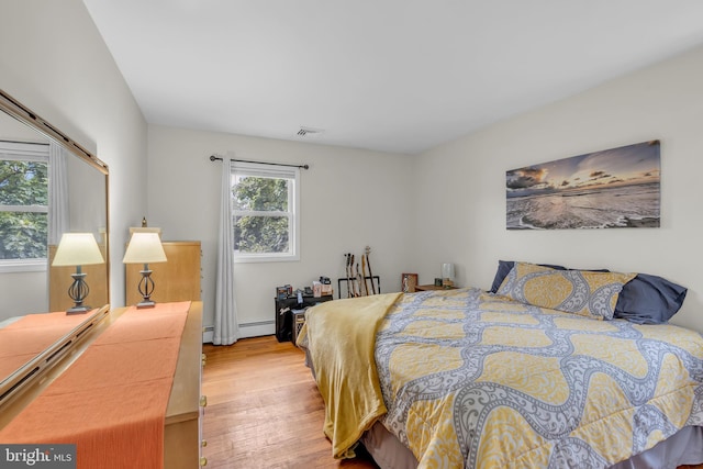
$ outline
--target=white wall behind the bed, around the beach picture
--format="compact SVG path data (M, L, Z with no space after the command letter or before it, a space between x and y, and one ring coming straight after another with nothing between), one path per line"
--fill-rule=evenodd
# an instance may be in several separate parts
M415 168L417 270L450 260L459 283L481 288L499 259L659 275L689 288L672 322L703 331L701 83L703 47L425 153ZM660 228L505 230L506 170L656 138Z

